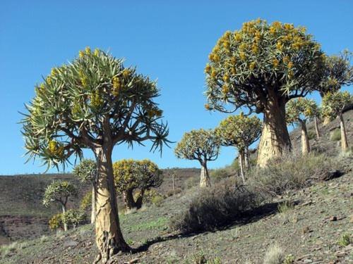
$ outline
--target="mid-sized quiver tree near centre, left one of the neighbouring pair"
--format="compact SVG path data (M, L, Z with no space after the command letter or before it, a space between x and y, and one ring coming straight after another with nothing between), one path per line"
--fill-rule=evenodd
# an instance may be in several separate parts
M220 140L214 130L191 130L181 138L174 153L178 158L196 160L201 164L200 187L210 187L208 161L215 161L220 153Z

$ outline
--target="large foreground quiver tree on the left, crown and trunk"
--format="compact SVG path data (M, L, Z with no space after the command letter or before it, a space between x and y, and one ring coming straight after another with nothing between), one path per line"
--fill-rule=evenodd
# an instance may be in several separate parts
M80 51L71 63L52 69L35 89L23 119L25 149L48 168L58 167L82 149L97 161L96 262L107 263L118 251L129 251L119 225L112 168L116 144L152 141L151 150L167 143L167 125L154 99L156 83L124 68L123 60L96 49Z

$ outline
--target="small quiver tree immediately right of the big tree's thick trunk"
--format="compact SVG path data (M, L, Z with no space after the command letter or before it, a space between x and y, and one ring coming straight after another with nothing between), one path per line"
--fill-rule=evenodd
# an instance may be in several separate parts
M286 113L289 124L299 123L301 127L301 153L306 155L310 152L306 120L316 118L318 115L318 106L311 99L294 99L287 103Z

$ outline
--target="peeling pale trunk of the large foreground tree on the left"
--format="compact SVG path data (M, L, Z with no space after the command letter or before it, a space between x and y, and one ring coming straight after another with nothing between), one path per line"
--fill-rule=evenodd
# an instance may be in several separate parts
M107 263L109 258L119 251L129 251L120 230L118 207L113 180L112 144L107 142L101 149L95 150L97 159L97 200L95 235L100 251L95 263Z

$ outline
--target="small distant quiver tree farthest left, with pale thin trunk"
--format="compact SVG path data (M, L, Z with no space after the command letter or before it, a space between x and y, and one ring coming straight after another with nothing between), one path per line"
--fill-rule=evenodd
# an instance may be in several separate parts
M77 189L71 182L57 180L47 186L43 196L43 205L48 207L50 203L60 203L62 215L66 213L66 204L68 197L77 196ZM67 230L66 221L64 221L64 230Z

